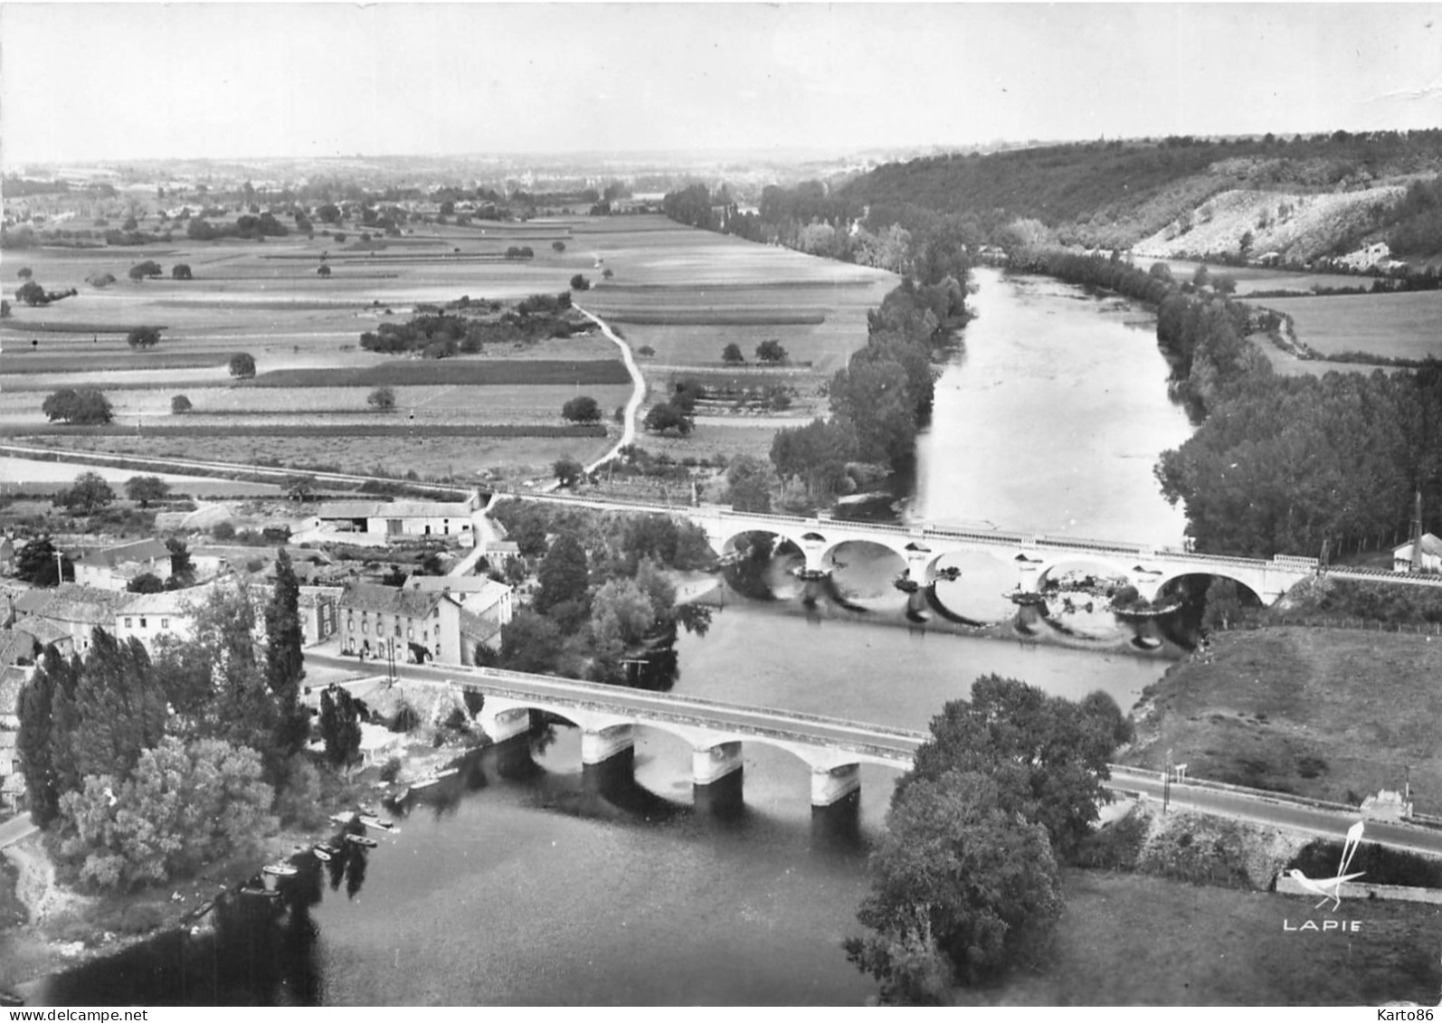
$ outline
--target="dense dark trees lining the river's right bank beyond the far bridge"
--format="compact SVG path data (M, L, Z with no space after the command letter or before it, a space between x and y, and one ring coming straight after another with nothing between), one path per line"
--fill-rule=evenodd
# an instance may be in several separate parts
M1028 269L1156 307L1172 390L1200 422L1156 478L1198 550L1335 556L1406 536L1415 494L1442 527L1442 363L1415 372L1278 376L1252 334L1265 313L1162 265L1030 252Z

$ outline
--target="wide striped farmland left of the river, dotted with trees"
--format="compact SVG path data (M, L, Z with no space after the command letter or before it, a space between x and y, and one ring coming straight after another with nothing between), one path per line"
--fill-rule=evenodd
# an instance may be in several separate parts
M323 233L265 242L193 242L177 233L146 246L14 254L14 265L29 267L48 290L79 294L40 308L12 304L13 316L0 321L0 432L49 434L52 444L71 434L61 442L182 457L544 477L555 458L591 460L619 435L610 412L626 403L632 383L617 347L598 331L443 360L371 353L359 336L405 323L418 303L555 294L584 274L593 287L577 291L575 304L611 323L633 350L655 350L637 357L652 402L692 372L717 386L740 378L793 389L793 408L779 419L751 414L748 421L720 406L689 439L642 442L678 458L764 454L777 425L805 422L823 406L822 382L864 343L867 310L895 282L658 216L424 225L372 242L360 242L356 228L340 229L343 244ZM565 251L555 252L554 241ZM529 245L535 256L505 259L508 245ZM185 262L193 280L128 280L130 267L146 259L167 274ZM329 277L316 274L322 262ZM117 281L87 282L104 272ZM125 331L140 324L164 327L149 352L125 344ZM787 366L756 365L756 346L769 339L787 350ZM721 363L731 341L748 360L741 373ZM255 359L255 379L229 376L238 352ZM46 424L45 395L81 385L107 392L123 429L81 437ZM378 386L395 390L394 412L366 405ZM606 411L610 437L545 437L564 425L559 406L578 393ZM193 414L172 415L176 395L189 398ZM286 428L294 434L288 447L271 435ZM528 435L479 435L499 428Z

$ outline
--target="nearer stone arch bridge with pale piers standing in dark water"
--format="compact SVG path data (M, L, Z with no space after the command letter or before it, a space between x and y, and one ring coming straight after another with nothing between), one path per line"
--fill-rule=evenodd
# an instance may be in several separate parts
M861 791L862 764L907 771L927 739L923 732L884 725L521 671L398 664L397 674L480 693L485 705L476 720L497 745L528 749L522 743L531 735L532 710L575 725L583 772L597 785L630 777L637 725L673 735L691 746L698 805L740 803L746 742L784 749L806 764L812 807L826 808Z

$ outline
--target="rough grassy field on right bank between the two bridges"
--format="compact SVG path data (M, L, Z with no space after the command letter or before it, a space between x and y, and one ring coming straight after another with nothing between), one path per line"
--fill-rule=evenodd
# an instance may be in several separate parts
M1442 643L1273 627L1220 633L1148 686L1120 762L1360 805L1412 782L1442 811Z

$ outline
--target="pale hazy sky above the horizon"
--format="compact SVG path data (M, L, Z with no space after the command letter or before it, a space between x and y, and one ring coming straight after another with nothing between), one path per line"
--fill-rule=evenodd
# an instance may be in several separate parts
M0 4L0 161L1442 127L1442 3Z

